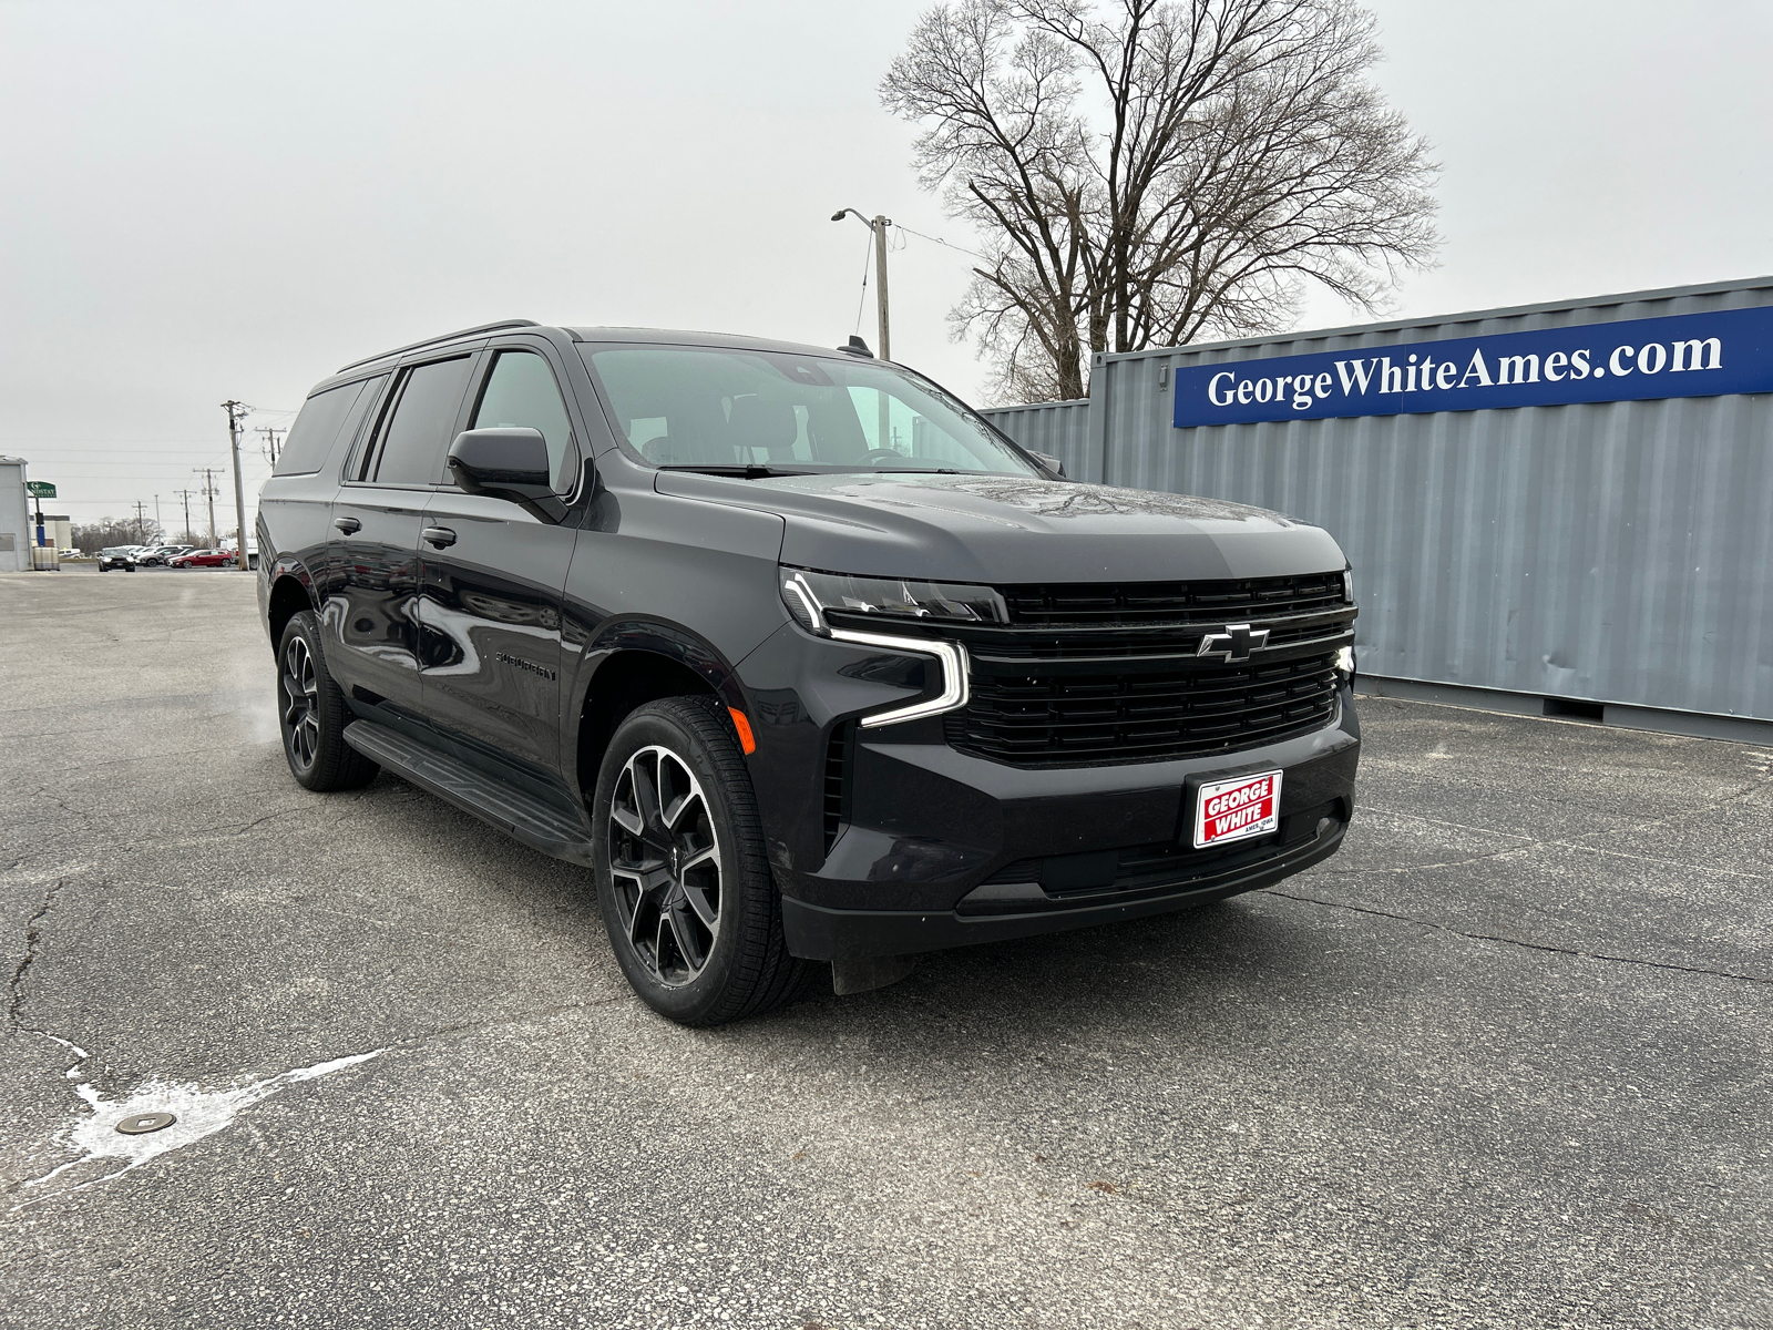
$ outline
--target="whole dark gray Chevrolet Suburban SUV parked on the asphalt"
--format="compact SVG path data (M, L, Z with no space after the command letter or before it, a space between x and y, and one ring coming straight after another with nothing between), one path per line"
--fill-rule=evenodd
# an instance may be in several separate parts
M684 1023L1264 887L1355 810L1328 534L1067 481L855 339L388 351L307 399L257 537L294 778L590 867Z

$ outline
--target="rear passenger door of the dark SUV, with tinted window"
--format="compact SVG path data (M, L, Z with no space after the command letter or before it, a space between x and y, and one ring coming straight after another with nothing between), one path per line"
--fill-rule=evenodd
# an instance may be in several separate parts
M324 649L358 702L420 713L418 528L477 358L402 365L333 500Z

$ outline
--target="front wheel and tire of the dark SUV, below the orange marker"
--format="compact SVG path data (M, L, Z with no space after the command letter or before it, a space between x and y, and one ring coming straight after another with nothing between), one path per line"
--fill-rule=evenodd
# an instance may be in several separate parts
M649 1007L723 1025L800 995L808 965L787 952L757 794L715 699L667 697L622 720L592 830L610 947Z

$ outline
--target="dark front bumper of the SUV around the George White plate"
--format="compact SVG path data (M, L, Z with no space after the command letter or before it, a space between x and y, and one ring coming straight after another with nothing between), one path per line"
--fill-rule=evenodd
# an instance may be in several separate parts
M846 727L862 704L878 709L924 681L915 658L895 665L867 649L849 649L855 661L832 658L842 651L796 633L739 669L794 956L904 956L1188 908L1328 858L1355 812L1360 725L1349 688L1330 725L1278 743L1027 770L957 752L940 718ZM1280 826L1193 849L1186 787L1271 768L1285 771Z

